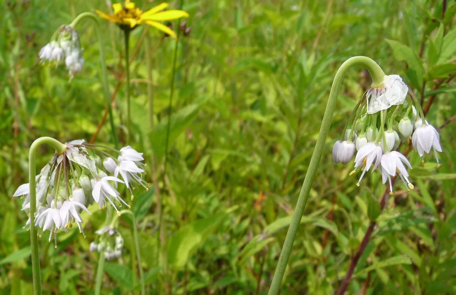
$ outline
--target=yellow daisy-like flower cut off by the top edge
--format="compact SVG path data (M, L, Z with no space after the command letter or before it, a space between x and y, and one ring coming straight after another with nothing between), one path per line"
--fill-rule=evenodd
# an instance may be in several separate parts
M113 21L119 24L119 26L124 30L132 30L136 26L145 23L165 32L174 39L177 39L174 31L158 21L171 21L181 17L188 17L188 13L184 10L162 11L166 7L168 7L167 3L161 3L160 5L143 12L139 8L135 7L135 3L130 0L125 0L124 5L121 3L113 4L113 15L108 15L99 10L95 10L95 12L108 21Z

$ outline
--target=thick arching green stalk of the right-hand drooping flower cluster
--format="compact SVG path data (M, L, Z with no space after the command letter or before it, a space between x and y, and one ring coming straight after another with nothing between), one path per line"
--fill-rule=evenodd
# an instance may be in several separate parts
M336 105L337 96L339 94L342 79L347 72L347 70L354 65L362 65L368 69L370 72L373 82L372 87L381 87L383 85L383 78L385 74L381 67L378 66L376 62L368 57L351 57L342 63L341 67L337 70L334 81L332 82L331 92L329 94L328 103L326 104L325 114L323 116L323 121L320 127L320 134L318 135L318 140L316 141L315 149L312 154L311 162L309 164L309 169L307 170L304 183L301 187L301 192L299 193L298 202L296 203L295 212L291 218L290 227L286 234L285 242L280 252L279 262L275 269L274 277L272 279L271 287L269 289L269 295L277 295L280 290L280 282L282 281L283 275L285 273L285 268L290 258L291 248L295 240L296 232L298 226L301 223L302 213L306 207L307 199L309 197L309 191L311 189L313 180L315 178L316 170L318 168L318 163L320 162L321 153L323 151L323 145L325 144L326 137L328 135L329 127L331 124L332 114L334 112L334 107Z

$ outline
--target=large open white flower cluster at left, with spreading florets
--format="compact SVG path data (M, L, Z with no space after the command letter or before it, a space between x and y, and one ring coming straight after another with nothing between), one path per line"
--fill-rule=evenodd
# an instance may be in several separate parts
M144 172L141 169L144 167L141 162L144 160L142 153L130 146L120 150L103 147L119 154L117 160L114 160L100 146L88 144L84 140L73 140L66 145L66 150L61 155L55 154L36 176L35 225L43 232L50 231L49 241L57 230L66 231L68 227L73 227L73 223L77 223L80 233L83 233L80 213L86 211L90 214L87 207L93 202L97 202L100 209L107 203L112 205L118 215L120 213L116 204L130 207L120 197L116 189L117 183L124 183L130 192L134 183L140 183L148 190L148 184L141 177ZM100 157L105 158L104 165ZM114 176L108 176L104 167L106 172ZM117 178L118 174L123 177L123 181ZM14 197L22 199L24 196L22 210L29 214L28 183L19 186L14 193ZM29 224L30 217L26 225Z

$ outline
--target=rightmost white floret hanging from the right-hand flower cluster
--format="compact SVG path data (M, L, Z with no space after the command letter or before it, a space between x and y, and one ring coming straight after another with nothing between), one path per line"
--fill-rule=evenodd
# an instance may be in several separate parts
M423 124L422 119L416 120L415 128L412 136L413 148L418 152L420 157L423 157L424 154L429 154L430 150L433 149L437 167L440 167L439 157L437 155L437 152L442 151L439 132L427 121Z

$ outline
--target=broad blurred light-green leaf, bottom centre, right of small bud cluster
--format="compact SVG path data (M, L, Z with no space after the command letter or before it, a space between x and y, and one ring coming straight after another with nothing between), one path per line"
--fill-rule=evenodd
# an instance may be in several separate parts
M193 252L206 241L225 217L226 213L218 213L180 228L168 243L168 262L172 267L183 268Z

